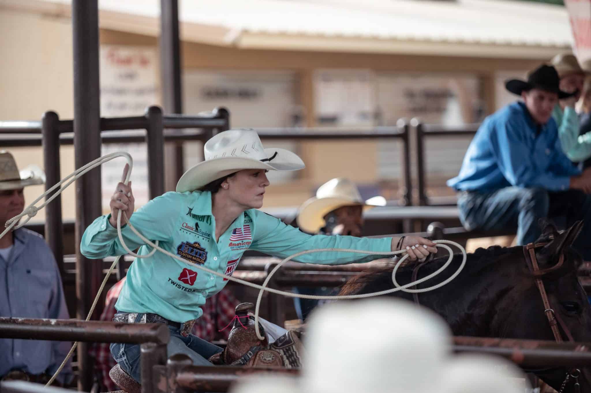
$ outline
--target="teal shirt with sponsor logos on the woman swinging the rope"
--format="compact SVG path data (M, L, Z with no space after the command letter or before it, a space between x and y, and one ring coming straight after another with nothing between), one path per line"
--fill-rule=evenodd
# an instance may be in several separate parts
M98 217L82 236L80 251L87 258L126 254L108 217ZM391 251L391 238L311 236L256 209L238 216L216 241L209 191L165 193L138 209L130 221L146 238L159 241L161 248L187 259L190 265L158 251L149 258L136 258L129 267L115 307L129 313L154 313L177 322L199 318L203 313L200 306L206 298L228 283L199 266L231 275L247 249L279 258L316 248ZM150 252L150 246L144 245L130 228L122 228L121 232L129 249L139 247L139 255ZM378 257L353 252L316 252L295 260L337 265L368 262Z

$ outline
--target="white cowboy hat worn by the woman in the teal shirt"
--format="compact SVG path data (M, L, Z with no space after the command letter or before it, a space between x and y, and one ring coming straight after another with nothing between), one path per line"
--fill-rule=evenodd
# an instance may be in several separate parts
M186 171L177 183L177 192L195 191L243 169L297 171L306 165L297 154L280 148L265 149L251 128L229 129L209 139L203 146L205 161Z

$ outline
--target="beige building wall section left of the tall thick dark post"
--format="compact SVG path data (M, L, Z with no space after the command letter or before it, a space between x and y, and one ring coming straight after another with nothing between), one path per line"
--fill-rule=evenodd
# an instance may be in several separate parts
M50 110L63 119L72 118L72 24L69 19L2 9L0 53L0 121L39 121L43 113ZM14 154L19 168L30 164L43 168L40 147L9 148L9 151ZM72 146L61 147L60 164L62 177L74 171ZM33 202L44 191L44 186L25 188L25 203ZM73 219L76 209L73 186L62 193L62 206L64 218ZM32 221L44 219L45 211L41 210Z

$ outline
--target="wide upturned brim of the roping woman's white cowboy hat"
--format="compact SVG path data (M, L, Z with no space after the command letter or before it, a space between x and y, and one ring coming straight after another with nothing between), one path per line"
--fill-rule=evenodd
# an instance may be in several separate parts
M267 148L267 157L271 161L260 161L246 157L220 157L202 161L187 170L178 180L177 192L195 191L206 184L243 169L265 169L270 171L297 171L306 167L297 154L280 148Z

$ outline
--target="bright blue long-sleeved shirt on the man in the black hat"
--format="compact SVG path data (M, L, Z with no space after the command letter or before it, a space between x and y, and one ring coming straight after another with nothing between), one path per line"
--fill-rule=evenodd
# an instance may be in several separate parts
M459 175L447 185L480 192L509 186L562 191L569 189L570 177L577 174L580 171L560 145L556 121L551 118L537 125L525 104L515 102L484 120L466 151Z

